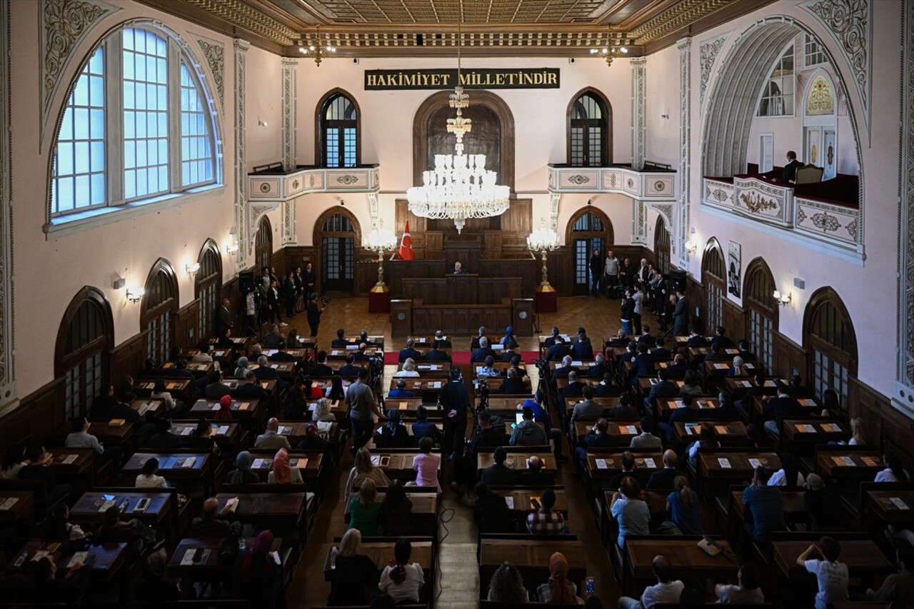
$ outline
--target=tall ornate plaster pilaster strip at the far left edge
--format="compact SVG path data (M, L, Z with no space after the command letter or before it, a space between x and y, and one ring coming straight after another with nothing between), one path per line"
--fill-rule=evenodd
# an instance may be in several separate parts
M13 136L7 128L12 116L10 78L10 0L0 0L0 412L16 408L16 337L13 328Z

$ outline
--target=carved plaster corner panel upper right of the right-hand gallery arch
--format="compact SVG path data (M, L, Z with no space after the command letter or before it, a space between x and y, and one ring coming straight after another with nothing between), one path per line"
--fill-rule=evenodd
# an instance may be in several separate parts
M904 3L903 3L904 4ZM871 137L870 93L873 68L873 4L870 0L810 0L800 5L816 16L832 36L854 74L866 140Z

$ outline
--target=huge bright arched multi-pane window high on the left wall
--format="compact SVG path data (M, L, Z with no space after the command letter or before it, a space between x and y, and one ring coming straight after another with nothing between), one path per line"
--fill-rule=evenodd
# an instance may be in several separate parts
M101 40L60 119L52 223L218 181L215 105L196 64L179 38L151 23Z

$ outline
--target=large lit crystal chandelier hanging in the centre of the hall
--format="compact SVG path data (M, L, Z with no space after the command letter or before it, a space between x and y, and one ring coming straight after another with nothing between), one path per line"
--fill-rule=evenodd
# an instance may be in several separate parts
M467 218L500 216L508 208L510 188L495 184L495 172L485 168L485 155L464 155L463 135L473 128L471 119L463 117L470 96L463 92L461 77L463 3L457 22L457 86L449 105L457 111L448 119L449 134L457 137L453 155L435 155L435 168L422 172L422 186L407 190L409 211L420 218L452 219L457 232Z

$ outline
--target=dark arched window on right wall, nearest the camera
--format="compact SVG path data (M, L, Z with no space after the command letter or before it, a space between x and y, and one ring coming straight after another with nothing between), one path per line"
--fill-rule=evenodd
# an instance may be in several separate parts
M845 304L832 288L810 298L803 315L803 346L816 395L835 390L847 411L847 377L856 376L856 334Z

